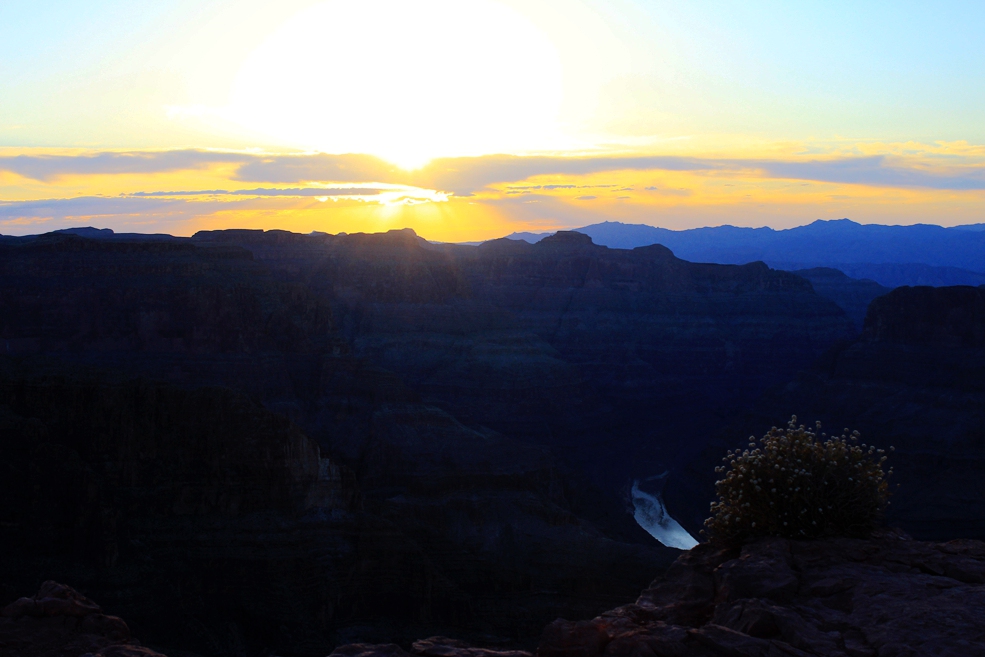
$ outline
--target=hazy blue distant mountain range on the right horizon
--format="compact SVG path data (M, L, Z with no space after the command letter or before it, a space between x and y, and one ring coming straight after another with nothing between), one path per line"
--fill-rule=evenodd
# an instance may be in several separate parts
M575 230L610 248L662 244L691 262L761 260L790 271L831 267L886 287L985 284L985 224L882 226L838 219L786 230L736 226L669 230L606 221ZM549 234L508 237L533 243Z

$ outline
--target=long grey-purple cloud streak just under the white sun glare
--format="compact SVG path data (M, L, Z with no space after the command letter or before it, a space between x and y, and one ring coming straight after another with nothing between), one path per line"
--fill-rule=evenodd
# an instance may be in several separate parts
M155 173L195 170L211 164L238 165L235 179L268 184L314 182L384 183L471 195L489 185L518 182L541 175L584 175L606 171L692 171L755 173L764 178L911 187L941 190L985 189L985 167L942 173L906 167L882 156L834 160L781 161L703 159L688 157L562 157L488 155L434 160L416 171L404 171L384 160L359 154L254 155L213 151L97 153L93 155L18 155L0 157L0 170L40 181L69 174ZM954 171L957 171L955 173ZM561 185L544 186L561 188ZM198 193L198 192L196 192ZM215 193L226 193L215 190ZM246 194L249 192L230 192ZM332 191L328 195L339 195ZM357 192L353 192L357 193ZM160 194L165 195L165 194ZM169 193L167 195L177 195ZM324 192L282 190L254 195L323 196Z

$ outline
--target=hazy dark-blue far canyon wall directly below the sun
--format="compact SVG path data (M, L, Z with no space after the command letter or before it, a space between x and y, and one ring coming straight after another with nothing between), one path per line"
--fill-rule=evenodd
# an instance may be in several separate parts
M479 247L411 231L194 240L303 281L355 354L467 425L558 449L603 490L674 467L692 436L854 335L800 277L578 233Z

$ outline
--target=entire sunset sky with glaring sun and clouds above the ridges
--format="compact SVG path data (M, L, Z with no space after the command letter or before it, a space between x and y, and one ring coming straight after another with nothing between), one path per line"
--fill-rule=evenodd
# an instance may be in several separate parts
M985 222L985 3L4 0L0 233Z

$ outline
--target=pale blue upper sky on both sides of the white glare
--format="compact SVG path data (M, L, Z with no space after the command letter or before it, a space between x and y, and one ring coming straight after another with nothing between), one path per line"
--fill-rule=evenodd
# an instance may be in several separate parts
M141 133L150 119L145 113L221 103L236 65L265 34L317 3L274 4L3 3L0 144L165 145L168 137ZM566 11L565 4L579 9ZM985 141L985 3L574 0L514 6L559 45L563 59L565 38L594 44L585 47L597 50L591 55L607 70L586 71L576 57L563 63L568 96L580 99L585 86L605 96L595 115L577 116L580 125L573 126L596 138L700 131ZM565 18L570 14L588 18ZM593 20L596 25L586 27ZM107 98L120 101L130 116L105 116ZM80 126L73 116L96 125ZM197 131L164 126L161 132L180 140ZM213 140L236 141L228 135Z

